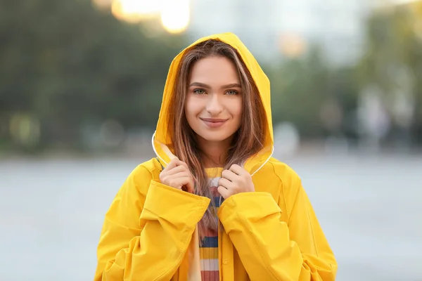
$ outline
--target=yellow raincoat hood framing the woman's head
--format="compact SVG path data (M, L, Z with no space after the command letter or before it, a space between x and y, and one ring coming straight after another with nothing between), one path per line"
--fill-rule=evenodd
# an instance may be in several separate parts
M163 166L167 166L170 160L177 156L174 155L174 151L170 149L173 147L173 145L171 143L172 141L170 138L170 133L167 131L167 112L169 109L168 107L170 104L170 98L174 94L173 89L174 83L177 79L177 72L181 65L181 59L183 58L186 51L188 51L193 46L196 46L197 44L203 41L207 41L209 39L222 41L226 44L229 44L230 46L235 48L236 51L238 51L238 53L241 55L243 63L245 63L246 67L248 67L248 70L252 75L252 79L255 81L258 91L260 92L262 104L264 105L264 110L267 115L267 142L265 143L264 148L257 155L250 157L250 159L248 159L245 164L243 164L243 168L246 171L248 171L250 174L255 174L269 160L272 155L272 152L274 151L269 79L267 75L264 74L260 65L257 63L257 60L255 60L248 48L246 48L246 46L235 34L230 32L214 34L208 37L198 39L197 41L193 42L193 44L181 51L172 61L172 64L170 65L170 70L167 74L167 81L165 83L165 89L162 96L162 104L160 109L160 115L158 117L157 128L152 139L153 149Z

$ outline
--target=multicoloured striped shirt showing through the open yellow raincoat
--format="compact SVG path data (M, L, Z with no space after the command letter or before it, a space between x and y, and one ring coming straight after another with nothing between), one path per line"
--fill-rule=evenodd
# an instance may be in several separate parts
M221 170L219 171L221 174ZM214 175L215 176L215 175ZM213 177L210 181L210 189L213 195L216 214L220 204L219 192L217 191L219 177ZM200 241L200 270L202 281L219 280L219 261L218 261L218 233L208 230L205 232L204 239Z

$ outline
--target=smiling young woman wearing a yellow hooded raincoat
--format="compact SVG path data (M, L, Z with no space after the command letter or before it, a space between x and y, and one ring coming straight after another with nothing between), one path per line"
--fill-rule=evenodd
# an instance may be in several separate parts
M174 58L153 148L106 214L94 280L335 279L299 176L271 157L269 80L234 34Z

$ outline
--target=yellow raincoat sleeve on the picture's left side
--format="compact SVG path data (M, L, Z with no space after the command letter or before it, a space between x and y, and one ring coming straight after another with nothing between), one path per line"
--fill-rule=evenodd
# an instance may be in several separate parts
M209 202L138 166L106 213L94 281L170 280Z

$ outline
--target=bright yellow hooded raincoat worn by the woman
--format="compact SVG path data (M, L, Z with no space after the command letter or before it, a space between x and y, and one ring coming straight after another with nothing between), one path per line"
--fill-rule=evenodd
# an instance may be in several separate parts
M269 138L244 168L255 192L224 200L219 208L220 280L335 280L337 263L298 174L271 157L273 133L269 80L255 58L231 33L219 39L241 54L267 112ZM184 51L174 58L165 85L153 148L158 159L140 164L117 193L98 244L94 280L199 281L196 225L210 199L160 183L162 165L174 157L167 134L167 108Z

